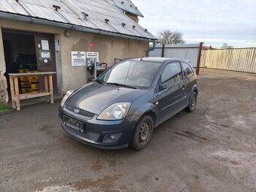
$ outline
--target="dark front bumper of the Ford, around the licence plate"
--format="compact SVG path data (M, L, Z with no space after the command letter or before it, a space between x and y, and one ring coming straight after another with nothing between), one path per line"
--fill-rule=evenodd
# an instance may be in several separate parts
M63 115L71 117L84 123L84 133L73 129L63 122ZM133 139L133 133L139 117L136 115L127 116L123 120L97 120L97 115L92 119L85 119L67 110L59 109L59 118L62 129L72 138L91 145L96 148L119 149L127 148ZM116 139L109 141L108 137L116 136Z

